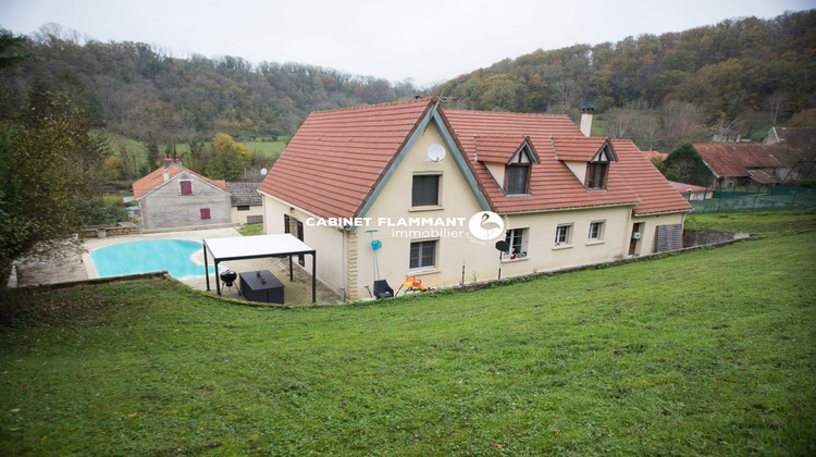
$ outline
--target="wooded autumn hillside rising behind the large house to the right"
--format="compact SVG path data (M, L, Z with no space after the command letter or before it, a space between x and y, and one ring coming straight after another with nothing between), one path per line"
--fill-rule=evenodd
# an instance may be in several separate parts
M537 50L435 94L460 108L521 112L574 113L583 103L643 112L673 102L708 125L772 124L816 104L816 10Z

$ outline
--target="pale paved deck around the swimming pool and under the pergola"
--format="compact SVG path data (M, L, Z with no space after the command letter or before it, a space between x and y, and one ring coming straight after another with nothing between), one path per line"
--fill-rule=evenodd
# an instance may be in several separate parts
M48 259L29 260L18 263L17 286L57 284L99 277L94 268L90 252L112 245L151 239L186 239L201 243L205 238L226 238L233 236L240 236L240 234L233 227L221 227L88 238L83 243L83 252L67 252L61 256L51 256ZM203 250L195 254L193 260L201 265L201 272L203 273ZM212 265L212 259L210 259L210 265ZM311 276L302 269L295 267L293 271L294 281L289 282L287 259L224 261L219 267L222 270L230 269L236 272L269 270L286 286L285 296L287 304L308 304L311 301ZM181 277L178 281L193 288L207 291L203 274L200 276ZM215 274L210 274L211 291L209 293L212 295L215 295ZM320 282L318 282L317 295L318 302L339 302L339 296ZM222 289L222 296L243 299L238 294L237 287Z

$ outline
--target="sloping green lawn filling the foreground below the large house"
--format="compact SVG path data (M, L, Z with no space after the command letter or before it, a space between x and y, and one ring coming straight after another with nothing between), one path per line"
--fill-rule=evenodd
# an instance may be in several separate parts
M473 293L4 291L5 455L813 455L816 232Z

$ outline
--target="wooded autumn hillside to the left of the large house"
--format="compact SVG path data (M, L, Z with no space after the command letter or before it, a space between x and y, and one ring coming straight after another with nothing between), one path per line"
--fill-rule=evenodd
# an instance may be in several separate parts
M14 30L11 30L14 34ZM16 35L16 34L15 34ZM100 42L57 24L27 37L35 55L2 74L3 96L25 99L34 78L83 92L109 129L163 145L290 135L309 112L394 101L416 92L392 84L298 63L252 64L239 57L177 59L143 42Z

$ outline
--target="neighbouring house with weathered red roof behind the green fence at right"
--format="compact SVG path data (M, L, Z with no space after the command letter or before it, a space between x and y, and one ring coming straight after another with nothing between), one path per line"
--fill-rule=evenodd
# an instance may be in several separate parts
M786 145L728 145L698 143L694 149L714 175L715 188L733 187L740 180L759 184L793 183L805 178L812 165ZM812 161L811 161L812 163Z

